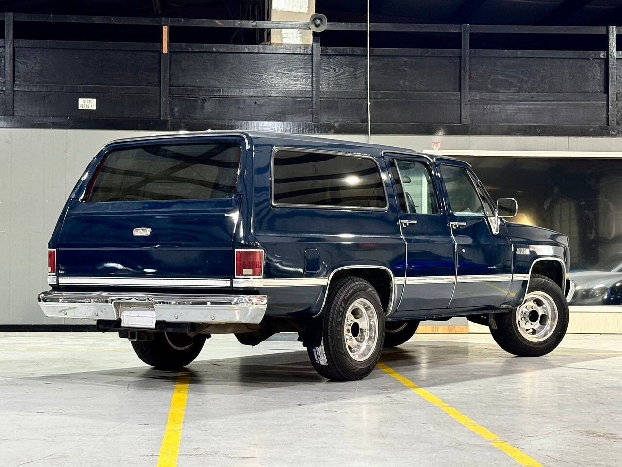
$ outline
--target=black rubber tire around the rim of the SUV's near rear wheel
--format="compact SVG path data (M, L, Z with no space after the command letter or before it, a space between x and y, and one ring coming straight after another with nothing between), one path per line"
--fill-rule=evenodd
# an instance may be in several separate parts
M369 313L375 316L376 321L376 338L363 361L357 361L351 356L344 337L348 309L360 299L371 304ZM313 368L333 381L363 379L374 369L383 349L384 313L378 293L368 281L359 277L342 278L328 291L323 313L322 343L320 347L307 347ZM350 329L355 328L350 325Z

